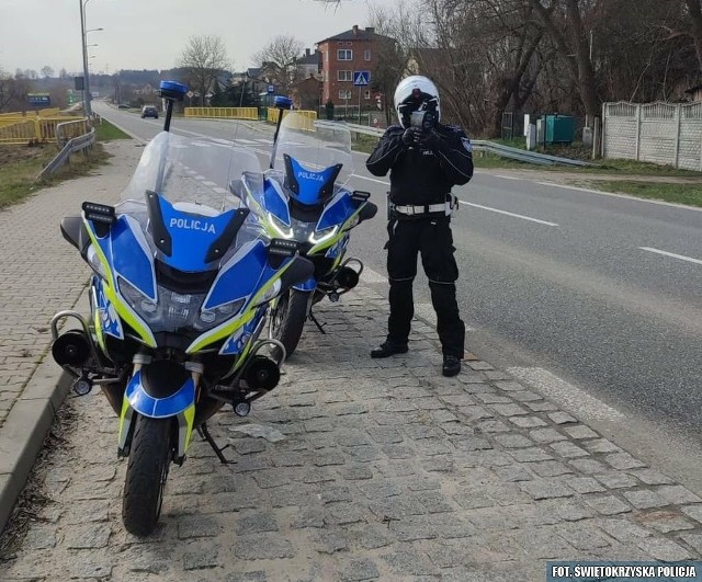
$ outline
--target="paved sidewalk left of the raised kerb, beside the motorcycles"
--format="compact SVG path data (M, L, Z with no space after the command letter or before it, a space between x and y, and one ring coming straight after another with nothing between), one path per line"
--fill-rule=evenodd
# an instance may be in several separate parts
M60 219L80 214L87 198L116 202L141 153L131 140L105 149L115 157L91 176L0 212L0 429L46 354L49 320L76 303L90 272L63 239Z

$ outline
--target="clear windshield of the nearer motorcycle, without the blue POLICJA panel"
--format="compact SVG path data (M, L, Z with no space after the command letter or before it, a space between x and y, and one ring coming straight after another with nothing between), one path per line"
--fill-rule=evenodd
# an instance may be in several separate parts
M244 172L262 183L261 166L251 150L161 132L144 149L122 199L144 201L154 192L184 212L215 216L239 206L228 184Z

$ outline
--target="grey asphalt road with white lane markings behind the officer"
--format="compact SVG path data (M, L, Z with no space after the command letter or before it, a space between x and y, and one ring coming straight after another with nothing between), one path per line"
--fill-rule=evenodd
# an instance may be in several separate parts
M145 140L162 125L102 104L95 111ZM272 129L256 123L177 119L174 127L270 150ZM384 275L387 179L371 176L365 158L356 156L351 185L381 209L350 249ZM499 171L478 172L454 193L463 201L452 224L467 349L653 456L699 449L702 213ZM428 308L423 277L415 294Z

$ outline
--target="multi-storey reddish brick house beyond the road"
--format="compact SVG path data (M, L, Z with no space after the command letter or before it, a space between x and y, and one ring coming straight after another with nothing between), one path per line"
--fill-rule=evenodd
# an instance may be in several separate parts
M321 54L321 100L322 104L331 101L336 106L358 106L361 109L375 105L373 95L373 70L383 42L387 36L375 33L375 28L359 28L354 25L317 43ZM369 84L360 88L353 84L354 72L367 71Z

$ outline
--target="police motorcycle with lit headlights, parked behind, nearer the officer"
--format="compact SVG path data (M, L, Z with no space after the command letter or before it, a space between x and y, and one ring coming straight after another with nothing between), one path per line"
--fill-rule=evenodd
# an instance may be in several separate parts
M312 119L288 111L291 100L276 96L279 112L270 169L263 190L235 192L259 218L269 236L299 243L315 265L314 275L273 300L269 336L290 356L309 318L322 326L313 306L325 297L337 303L359 283L363 263L347 258L349 232L373 218L377 206L370 193L346 186L353 173L351 132L343 123Z

